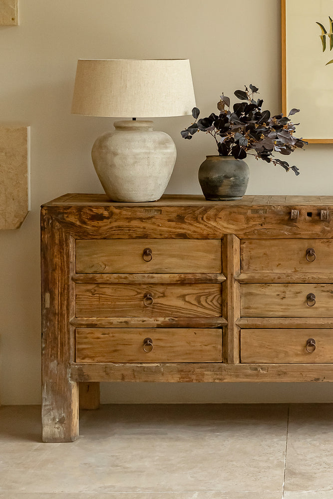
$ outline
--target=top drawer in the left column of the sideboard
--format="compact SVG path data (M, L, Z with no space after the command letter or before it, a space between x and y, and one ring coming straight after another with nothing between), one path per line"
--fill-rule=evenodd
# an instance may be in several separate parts
M77 273L221 272L220 240L77 240Z

